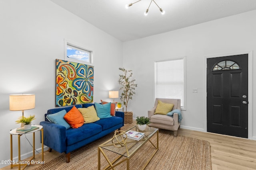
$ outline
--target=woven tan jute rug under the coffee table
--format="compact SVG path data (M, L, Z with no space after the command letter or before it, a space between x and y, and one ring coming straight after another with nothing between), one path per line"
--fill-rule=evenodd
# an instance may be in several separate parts
M128 128L128 127L126 127ZM125 129L126 129L125 128ZM122 130L125 130L124 128ZM50 162L35 168L35 170L97 170L98 169L98 145L111 139L114 133L110 133L101 139L94 141L80 149L71 152L70 163L66 163L66 156L62 154ZM156 135L152 137L156 142ZM150 142L146 143L130 159L130 170L140 170L154 150ZM116 154L106 151L110 160L116 158ZM119 160L121 161L122 158ZM108 165L101 154L101 169ZM116 167L116 170L126 169L126 163ZM146 170L211 170L210 143L208 141L178 135L174 137L170 131L159 129L159 150L146 166Z

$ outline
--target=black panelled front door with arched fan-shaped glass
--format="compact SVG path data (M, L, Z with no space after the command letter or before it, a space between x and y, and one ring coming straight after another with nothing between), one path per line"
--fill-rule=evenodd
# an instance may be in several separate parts
M207 59L207 131L248 138L248 54Z

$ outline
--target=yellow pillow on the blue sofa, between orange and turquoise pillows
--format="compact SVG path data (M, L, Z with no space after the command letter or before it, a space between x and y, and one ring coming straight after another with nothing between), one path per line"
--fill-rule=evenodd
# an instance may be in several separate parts
M92 123L100 120L100 118L97 116L94 106L90 106L87 108L78 108L78 110L81 112L82 116L84 117L84 123Z

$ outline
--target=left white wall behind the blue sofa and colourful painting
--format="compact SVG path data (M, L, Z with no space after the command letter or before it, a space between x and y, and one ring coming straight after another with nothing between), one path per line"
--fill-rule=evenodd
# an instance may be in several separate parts
M122 42L49 0L2 0L0 23L0 160L8 160L9 131L20 126L15 121L22 115L9 110L9 95L36 94L36 108L24 115L35 114L33 124L44 121L44 113L55 107L55 59L64 59L64 39L68 39L94 51L94 102L111 101L108 90L119 88ZM31 134L27 137L32 141ZM17 136L13 143L17 158ZM37 133L36 149L40 146ZM21 147L23 157L31 155L24 135Z

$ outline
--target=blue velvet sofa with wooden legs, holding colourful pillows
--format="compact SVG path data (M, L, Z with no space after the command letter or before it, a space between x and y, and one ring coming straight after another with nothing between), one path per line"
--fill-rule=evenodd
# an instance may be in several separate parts
M94 104L80 104L77 108L89 107ZM44 128L44 145L52 149L66 154L67 163L70 162L70 152L78 149L92 141L95 141L116 129L124 126L124 112L116 111L115 116L100 119L94 123L86 123L77 129L66 129L62 125L57 125L48 121L48 114L57 113L63 109L70 111L73 106L49 109L45 114L45 121L40 122Z

